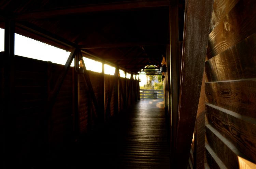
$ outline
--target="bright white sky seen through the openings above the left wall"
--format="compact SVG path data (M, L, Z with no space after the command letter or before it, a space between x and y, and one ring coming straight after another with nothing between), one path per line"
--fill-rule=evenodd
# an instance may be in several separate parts
M22 36L15 33L15 44L14 44L14 53L18 56L28 57L32 59L38 59L43 61L51 61L53 63L65 65L70 52L66 50L30 39L26 36ZM0 28L0 51L4 51L4 29ZM102 72L102 63L83 57L86 69L94 72ZM71 63L71 66L74 66L74 60ZM119 70L120 77L131 78L131 74L123 70ZM114 75L115 67L108 64L104 64L104 73L109 75ZM134 75L135 76L135 75ZM133 76L133 78L134 78ZM138 76L136 77L138 79ZM140 75L140 86L146 84L146 75Z

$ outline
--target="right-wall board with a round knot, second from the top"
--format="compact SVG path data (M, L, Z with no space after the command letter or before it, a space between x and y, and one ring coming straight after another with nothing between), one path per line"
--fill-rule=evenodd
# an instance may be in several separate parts
M207 58L210 59L245 39L256 30L254 0L240 0L232 10L219 21L209 35Z

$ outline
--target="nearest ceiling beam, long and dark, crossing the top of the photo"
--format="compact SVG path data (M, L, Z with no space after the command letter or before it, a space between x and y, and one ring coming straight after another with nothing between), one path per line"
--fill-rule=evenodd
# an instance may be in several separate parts
M40 10L26 13L13 14L13 20L31 20L59 17L72 14L84 14L90 12L116 11L116 10L130 10L150 7L169 6L169 0L153 0L153 1L131 1L131 2L117 2L104 3L94 5L83 5L73 7L63 7L57 9Z

